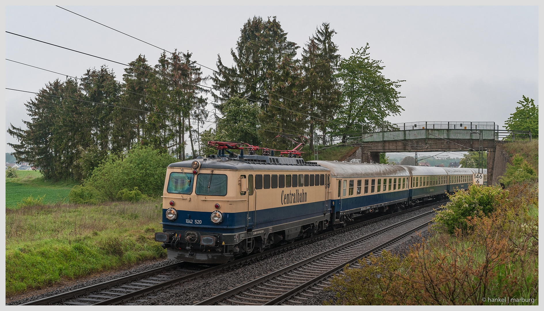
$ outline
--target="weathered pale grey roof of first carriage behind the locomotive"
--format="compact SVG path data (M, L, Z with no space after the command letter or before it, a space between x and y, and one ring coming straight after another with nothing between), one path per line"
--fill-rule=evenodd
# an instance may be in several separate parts
M333 177L408 176L408 172L400 165L334 161L311 161L310 163L329 168Z

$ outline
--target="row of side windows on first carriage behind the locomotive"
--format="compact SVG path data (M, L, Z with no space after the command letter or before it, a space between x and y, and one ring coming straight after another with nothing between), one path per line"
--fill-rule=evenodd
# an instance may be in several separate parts
M362 179L357 180L357 187L355 188L355 180L338 180L338 197L353 196L361 194L361 190L364 194L397 191L408 188L407 178L384 178L384 179L364 179L364 186L361 186ZM362 189L361 189L362 188ZM354 192L356 190L356 192Z

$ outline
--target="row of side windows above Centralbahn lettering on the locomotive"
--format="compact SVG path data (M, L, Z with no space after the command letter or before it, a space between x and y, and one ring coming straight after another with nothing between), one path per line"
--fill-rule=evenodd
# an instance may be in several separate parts
M255 189L324 186L325 174L257 174Z

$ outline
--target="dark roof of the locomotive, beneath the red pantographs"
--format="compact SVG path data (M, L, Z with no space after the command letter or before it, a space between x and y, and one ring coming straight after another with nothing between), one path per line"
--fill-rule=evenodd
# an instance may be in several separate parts
M239 157L218 157L202 158L197 157L194 160L186 160L170 164L170 168L191 168L193 161L199 161L200 168L207 169L228 169L228 170L328 170L318 164L309 164L302 158L285 158L269 156L245 156ZM284 163L282 163L284 162ZM298 163L297 163L298 162Z

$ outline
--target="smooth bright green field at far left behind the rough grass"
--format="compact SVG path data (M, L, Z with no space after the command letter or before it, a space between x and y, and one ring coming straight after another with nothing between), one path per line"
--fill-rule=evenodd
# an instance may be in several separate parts
M22 199L44 197L44 204L67 202L68 194L75 181L45 181L40 172L34 170L18 170L17 178L5 179L5 207L16 208Z

